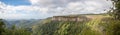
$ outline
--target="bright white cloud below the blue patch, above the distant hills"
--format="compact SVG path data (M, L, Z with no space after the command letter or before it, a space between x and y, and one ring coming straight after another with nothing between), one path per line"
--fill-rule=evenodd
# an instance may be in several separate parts
M10 6L0 2L0 19L40 19L41 13L36 6Z

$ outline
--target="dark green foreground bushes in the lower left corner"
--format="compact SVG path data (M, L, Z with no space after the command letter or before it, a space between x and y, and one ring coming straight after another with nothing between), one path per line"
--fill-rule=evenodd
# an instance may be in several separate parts
M16 28L13 26L11 29L5 27L5 23L0 19L0 35L30 35L27 29Z

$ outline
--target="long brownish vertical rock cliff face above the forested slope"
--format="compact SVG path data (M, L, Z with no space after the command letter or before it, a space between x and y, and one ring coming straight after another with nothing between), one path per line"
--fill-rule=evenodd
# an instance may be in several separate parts
M85 16L53 16L53 21L84 21L87 20Z

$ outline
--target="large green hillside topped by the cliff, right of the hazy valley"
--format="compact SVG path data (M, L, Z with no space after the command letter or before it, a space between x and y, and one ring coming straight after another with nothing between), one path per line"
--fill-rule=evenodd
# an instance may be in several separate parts
M76 16L72 16L72 17L54 16L52 18L44 20L42 25L33 26L33 34L34 35L118 35L120 33L120 28L119 28L120 21L114 20L110 18L110 16L108 15L83 15L83 16L84 18L87 18L89 20L85 19L85 21L74 21L73 19L75 19Z

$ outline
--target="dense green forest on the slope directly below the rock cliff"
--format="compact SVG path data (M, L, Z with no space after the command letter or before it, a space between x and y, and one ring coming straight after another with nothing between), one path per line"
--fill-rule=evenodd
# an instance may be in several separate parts
M77 35L81 34L86 22L50 21L37 26L35 35Z

